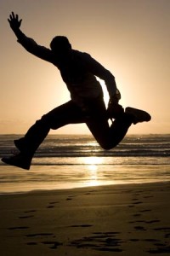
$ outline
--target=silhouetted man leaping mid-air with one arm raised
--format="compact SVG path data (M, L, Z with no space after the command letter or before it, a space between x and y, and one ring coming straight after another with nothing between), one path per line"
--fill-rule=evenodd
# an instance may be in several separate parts
M31 54L54 64L71 93L71 101L54 108L31 126L25 137L14 140L19 154L3 158L3 162L29 170L31 159L37 148L47 137L50 129L63 125L86 123L102 148L116 147L132 124L150 121L150 114L136 108L126 108L118 103L121 95L116 88L114 76L87 53L71 48L69 40L63 36L53 38L50 49L38 45L21 32L21 21L12 12L9 25L18 42ZM96 79L103 79L109 92L108 109L105 108L103 91ZM112 120L111 126L108 119Z

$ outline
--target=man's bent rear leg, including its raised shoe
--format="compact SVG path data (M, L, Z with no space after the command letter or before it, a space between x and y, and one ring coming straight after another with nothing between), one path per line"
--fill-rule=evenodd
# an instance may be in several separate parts
M104 102L100 100L91 104L92 115L86 124L99 145L104 149L116 147L122 141L123 137L125 137L132 124L135 125L144 121L148 122L151 119L150 114L143 110L126 108L125 112L115 119L110 127Z

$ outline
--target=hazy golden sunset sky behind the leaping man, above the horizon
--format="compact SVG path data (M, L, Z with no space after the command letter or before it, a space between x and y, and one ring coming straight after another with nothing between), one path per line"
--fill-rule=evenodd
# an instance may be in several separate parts
M54 36L64 35L73 49L88 52L111 71L123 108L152 116L149 123L132 125L129 134L170 132L169 0L1 0L0 134L26 133L44 113L70 100L58 69L16 42L7 21L11 11L37 44L49 47ZM51 133L89 131L82 124Z

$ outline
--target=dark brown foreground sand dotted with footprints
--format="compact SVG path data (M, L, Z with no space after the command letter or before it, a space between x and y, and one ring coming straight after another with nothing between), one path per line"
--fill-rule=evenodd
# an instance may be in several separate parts
M0 255L170 255L170 183L0 195Z

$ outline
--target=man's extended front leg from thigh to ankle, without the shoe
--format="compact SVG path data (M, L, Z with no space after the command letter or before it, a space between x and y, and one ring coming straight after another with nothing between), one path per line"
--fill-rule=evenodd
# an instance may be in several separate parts
M45 137L47 137L50 129L57 130L64 125L81 122L81 110L73 102L66 102L44 114L42 119L37 120L26 132L25 137L15 140L14 143L21 152L34 154Z

